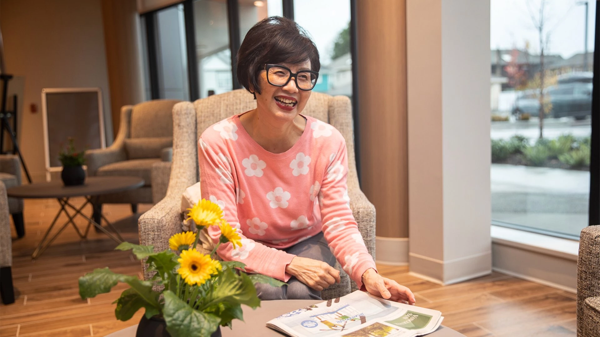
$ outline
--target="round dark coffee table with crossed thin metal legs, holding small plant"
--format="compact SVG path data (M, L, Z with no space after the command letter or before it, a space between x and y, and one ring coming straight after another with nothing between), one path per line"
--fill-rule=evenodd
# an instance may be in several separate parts
M83 207L87 206L87 204L94 202L92 198L97 198L98 195L113 193L113 192L122 192L127 191L128 189L139 188L144 185L144 180L139 177L121 177L121 176L106 176L106 177L86 177L85 183L79 186L64 186L61 181L53 181L53 182L38 182L31 183L29 185L20 185L7 189L7 195L9 197L14 198L56 198L58 202L61 204L61 209L56 214L52 224L44 234L44 237L41 239L40 244L34 251L34 254L31 255L32 258L37 258L43 253L46 248L50 246L50 244L62 233L65 228L69 224L73 225L77 234L80 238L85 239L88 237L89 228L94 225L97 230L102 231L104 234L109 236L111 239L115 240L118 243L123 242L123 238L119 231L104 217L101 215L101 218L106 221L108 227L115 232L115 234L107 231L106 228L102 227L100 224L95 222L89 216L83 214L81 210ZM69 198L71 197L85 197L85 203L83 203L80 207L75 207L73 204L69 202ZM67 208L70 208L75 211L73 215L71 215ZM67 215L68 221L65 222L64 225L52 236L48 239L50 235L50 231L56 224L61 213L64 212ZM88 226L85 231L79 230L79 227L75 225L73 219L77 216L82 216L88 221Z

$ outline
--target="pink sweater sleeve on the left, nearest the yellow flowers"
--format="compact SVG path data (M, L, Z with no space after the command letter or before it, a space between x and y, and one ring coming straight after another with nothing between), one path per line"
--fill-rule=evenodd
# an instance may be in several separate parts
M232 243L222 244L217 254L225 261L241 261L246 264L246 271L260 273L287 282L292 276L285 272L287 264L296 255L271 248L248 239L242 233L238 219L238 189L233 177L229 154L217 153L200 138L198 142L198 161L200 168L200 191L202 198L217 203L223 209L224 218L236 229L241 237L242 246L233 249ZM208 228L208 234L218 242L221 231L218 226Z

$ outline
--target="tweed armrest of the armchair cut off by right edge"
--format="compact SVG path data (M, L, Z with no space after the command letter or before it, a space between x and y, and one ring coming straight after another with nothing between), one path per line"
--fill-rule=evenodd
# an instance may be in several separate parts
M600 296L600 225L581 230L577 260L577 335L584 335L586 299Z

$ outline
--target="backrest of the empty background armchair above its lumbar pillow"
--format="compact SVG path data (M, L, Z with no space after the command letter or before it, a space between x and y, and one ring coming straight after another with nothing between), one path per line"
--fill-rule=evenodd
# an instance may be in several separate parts
M179 100L152 100L131 108L129 138L173 137L173 106Z

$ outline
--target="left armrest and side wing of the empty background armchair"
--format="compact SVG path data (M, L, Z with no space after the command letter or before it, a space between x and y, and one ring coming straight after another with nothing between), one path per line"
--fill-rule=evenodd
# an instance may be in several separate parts
M95 176L100 167L118 161L127 160L125 152L125 138L129 137L131 109L133 106L121 108L121 124L115 142L106 149L93 149L85 152L85 161L88 167L88 176Z

